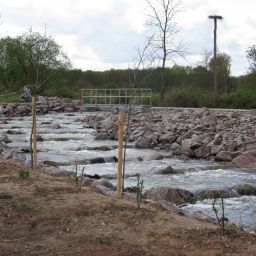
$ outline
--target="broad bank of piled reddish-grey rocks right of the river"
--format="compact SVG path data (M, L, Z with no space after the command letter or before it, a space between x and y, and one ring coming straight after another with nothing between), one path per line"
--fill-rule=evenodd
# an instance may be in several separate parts
M117 139L117 119L116 113L99 113L84 121L97 130L96 138ZM256 168L255 124L255 110L134 110L129 141L137 148L169 150L173 156L233 161L239 167Z

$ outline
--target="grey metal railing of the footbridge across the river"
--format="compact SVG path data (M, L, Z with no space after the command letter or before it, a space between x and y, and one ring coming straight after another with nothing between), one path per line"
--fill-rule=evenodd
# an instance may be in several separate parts
M151 107L152 90L142 89L82 89L82 109L98 107Z

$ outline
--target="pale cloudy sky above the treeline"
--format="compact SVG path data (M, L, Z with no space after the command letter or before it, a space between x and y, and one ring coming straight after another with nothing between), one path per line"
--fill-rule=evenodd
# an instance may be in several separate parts
M232 58L232 74L248 71L246 49L256 44L255 0L183 0L177 17L187 60L197 65L213 48L213 21L218 23L218 49ZM0 0L0 36L33 28L47 32L63 47L73 66L82 70L127 68L142 47L148 14L145 0ZM177 60L177 64L185 64Z

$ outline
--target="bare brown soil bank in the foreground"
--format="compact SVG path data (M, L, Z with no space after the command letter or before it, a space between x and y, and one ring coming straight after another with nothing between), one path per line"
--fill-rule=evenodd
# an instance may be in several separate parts
M0 255L256 255L256 236L0 161ZM3 195L3 193L2 193ZM2 196L3 197L3 196Z

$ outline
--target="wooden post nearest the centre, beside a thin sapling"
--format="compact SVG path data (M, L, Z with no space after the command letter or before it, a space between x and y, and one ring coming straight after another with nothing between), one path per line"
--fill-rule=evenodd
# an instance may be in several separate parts
M118 173L117 173L117 192L122 193L122 167L123 167L123 130L125 116L124 112L119 112L118 118Z

